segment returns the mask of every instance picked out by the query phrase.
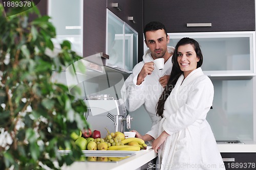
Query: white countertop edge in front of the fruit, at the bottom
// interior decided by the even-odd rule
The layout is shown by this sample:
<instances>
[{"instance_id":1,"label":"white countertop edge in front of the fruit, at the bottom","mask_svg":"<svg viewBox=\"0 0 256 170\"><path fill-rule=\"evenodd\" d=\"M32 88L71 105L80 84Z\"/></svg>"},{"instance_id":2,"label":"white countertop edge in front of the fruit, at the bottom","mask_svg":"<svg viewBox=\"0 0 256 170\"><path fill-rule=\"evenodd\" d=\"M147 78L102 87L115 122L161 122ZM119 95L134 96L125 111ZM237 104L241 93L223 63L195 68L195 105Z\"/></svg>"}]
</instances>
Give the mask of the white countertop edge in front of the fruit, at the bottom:
<instances>
[{"instance_id":1,"label":"white countertop edge in front of the fruit, at the bottom","mask_svg":"<svg viewBox=\"0 0 256 170\"><path fill-rule=\"evenodd\" d=\"M97 169L97 170L135 170L154 159L157 155L151 147L138 151L135 155L118 162L74 162L71 166L62 166L63 170Z\"/></svg>"}]
</instances>

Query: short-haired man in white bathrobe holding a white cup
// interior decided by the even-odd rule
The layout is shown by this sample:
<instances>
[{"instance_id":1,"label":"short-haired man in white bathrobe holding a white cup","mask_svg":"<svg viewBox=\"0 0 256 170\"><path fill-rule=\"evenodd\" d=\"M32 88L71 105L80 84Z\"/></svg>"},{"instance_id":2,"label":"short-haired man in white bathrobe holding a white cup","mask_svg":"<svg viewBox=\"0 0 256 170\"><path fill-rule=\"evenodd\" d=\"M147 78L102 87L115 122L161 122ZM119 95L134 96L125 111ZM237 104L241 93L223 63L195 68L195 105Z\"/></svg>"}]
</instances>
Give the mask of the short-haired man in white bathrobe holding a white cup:
<instances>
[{"instance_id":1,"label":"short-haired man in white bathrobe holding a white cup","mask_svg":"<svg viewBox=\"0 0 256 170\"><path fill-rule=\"evenodd\" d=\"M133 68L133 74L125 80L121 95L128 111L135 111L143 105L151 117L152 125L155 125L158 120L156 105L169 80L174 47L167 46L169 36L161 22L148 23L143 33L149 49L143 55L143 61ZM153 61L158 58L164 58L162 70L154 66Z\"/></svg>"}]
</instances>

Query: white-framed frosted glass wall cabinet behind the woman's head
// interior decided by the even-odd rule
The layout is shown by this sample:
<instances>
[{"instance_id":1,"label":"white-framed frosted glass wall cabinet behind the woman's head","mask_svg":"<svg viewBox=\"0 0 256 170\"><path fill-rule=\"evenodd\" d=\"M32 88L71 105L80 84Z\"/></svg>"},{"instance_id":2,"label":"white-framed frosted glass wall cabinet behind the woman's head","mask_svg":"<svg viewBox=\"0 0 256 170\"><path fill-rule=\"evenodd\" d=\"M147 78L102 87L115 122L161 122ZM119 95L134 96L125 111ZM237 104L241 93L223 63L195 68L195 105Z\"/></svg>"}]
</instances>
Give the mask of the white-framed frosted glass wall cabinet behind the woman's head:
<instances>
[{"instance_id":1,"label":"white-framed frosted glass wall cabinet behind the woman's head","mask_svg":"<svg viewBox=\"0 0 256 170\"><path fill-rule=\"evenodd\" d=\"M254 32L168 33L175 46L183 37L197 40L203 53L202 69L210 77L255 76Z\"/></svg>"}]
</instances>

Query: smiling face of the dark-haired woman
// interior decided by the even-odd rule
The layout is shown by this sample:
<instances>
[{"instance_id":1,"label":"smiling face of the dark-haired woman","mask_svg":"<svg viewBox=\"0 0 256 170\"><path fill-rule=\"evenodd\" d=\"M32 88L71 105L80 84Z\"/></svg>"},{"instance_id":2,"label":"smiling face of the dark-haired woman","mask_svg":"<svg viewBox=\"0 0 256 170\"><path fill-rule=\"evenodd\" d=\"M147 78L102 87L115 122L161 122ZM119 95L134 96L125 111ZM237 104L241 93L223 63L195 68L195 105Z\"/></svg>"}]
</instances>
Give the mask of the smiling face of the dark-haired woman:
<instances>
[{"instance_id":1,"label":"smiling face of the dark-haired woman","mask_svg":"<svg viewBox=\"0 0 256 170\"><path fill-rule=\"evenodd\" d=\"M177 61L179 63L180 69L184 73L184 77L186 78L187 75L197 69L197 62L200 59L197 57L195 52L194 46L191 44L180 45L178 47L178 58Z\"/></svg>"}]
</instances>

